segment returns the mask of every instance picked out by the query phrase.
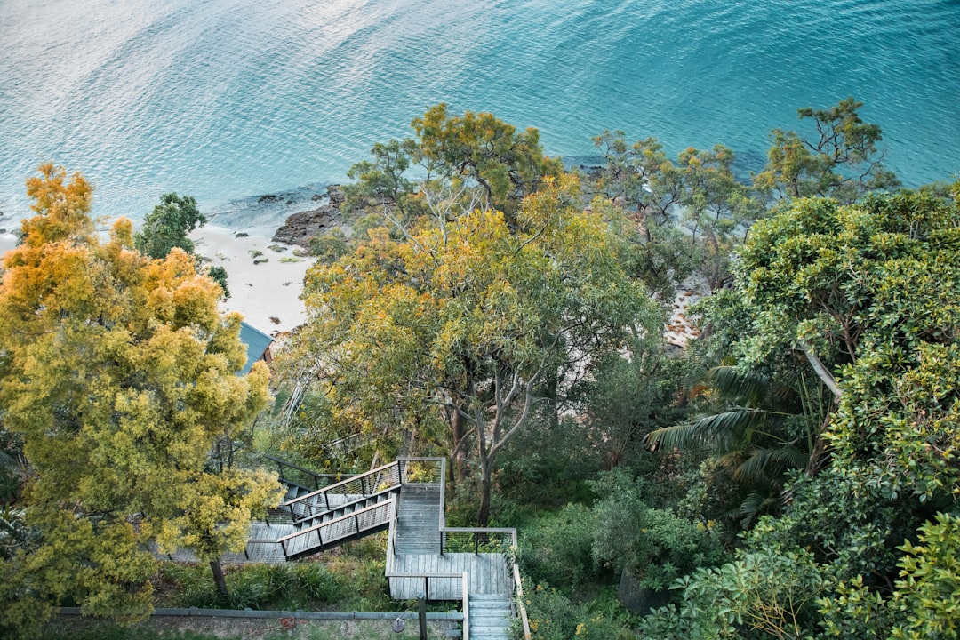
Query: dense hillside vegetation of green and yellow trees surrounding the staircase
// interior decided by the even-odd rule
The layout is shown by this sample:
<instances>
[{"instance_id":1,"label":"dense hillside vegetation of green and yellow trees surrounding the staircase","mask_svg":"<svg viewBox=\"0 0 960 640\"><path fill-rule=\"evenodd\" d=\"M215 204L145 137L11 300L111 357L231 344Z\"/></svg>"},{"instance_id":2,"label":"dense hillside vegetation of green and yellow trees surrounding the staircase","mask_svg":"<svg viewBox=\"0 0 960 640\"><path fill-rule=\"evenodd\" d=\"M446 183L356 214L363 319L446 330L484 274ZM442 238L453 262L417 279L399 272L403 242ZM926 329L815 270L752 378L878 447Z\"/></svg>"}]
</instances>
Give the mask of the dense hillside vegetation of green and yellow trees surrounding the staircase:
<instances>
[{"instance_id":1,"label":"dense hillside vegetation of green and yellow trees surrounding the staircase","mask_svg":"<svg viewBox=\"0 0 960 640\"><path fill-rule=\"evenodd\" d=\"M314 243L259 444L344 471L447 457L451 523L520 529L538 639L957 637L960 182L900 189L859 107L802 109L749 180L725 147L673 161L618 131L580 176L536 130L429 109L351 170L352 233ZM222 291L182 243L141 257L122 223L101 245L63 179L32 178L0 289L0 436L29 461L24 493L0 484L10 628L28 600L142 612L138 549L214 559L233 538L199 532L269 503L206 458L266 384L228 376ZM155 213L185 228L189 204ZM710 294L682 350L678 288Z\"/></svg>"}]
</instances>

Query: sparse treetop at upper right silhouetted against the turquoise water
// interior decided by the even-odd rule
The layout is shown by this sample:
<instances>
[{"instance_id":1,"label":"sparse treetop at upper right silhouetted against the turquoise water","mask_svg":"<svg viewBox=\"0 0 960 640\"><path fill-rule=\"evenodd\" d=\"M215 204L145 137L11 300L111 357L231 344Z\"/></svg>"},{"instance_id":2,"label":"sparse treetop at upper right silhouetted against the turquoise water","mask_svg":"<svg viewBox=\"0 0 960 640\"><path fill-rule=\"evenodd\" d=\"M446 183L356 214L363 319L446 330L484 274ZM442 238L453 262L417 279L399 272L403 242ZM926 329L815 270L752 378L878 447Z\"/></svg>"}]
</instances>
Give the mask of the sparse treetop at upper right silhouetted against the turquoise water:
<instances>
[{"instance_id":1,"label":"sparse treetop at upper right silhouetted against the turquoise water","mask_svg":"<svg viewBox=\"0 0 960 640\"><path fill-rule=\"evenodd\" d=\"M816 135L771 131L767 166L756 176L756 187L786 200L822 196L852 202L868 191L899 186L876 150L881 130L863 122L860 107L851 97L828 109L799 109L801 119L813 120Z\"/></svg>"}]
</instances>

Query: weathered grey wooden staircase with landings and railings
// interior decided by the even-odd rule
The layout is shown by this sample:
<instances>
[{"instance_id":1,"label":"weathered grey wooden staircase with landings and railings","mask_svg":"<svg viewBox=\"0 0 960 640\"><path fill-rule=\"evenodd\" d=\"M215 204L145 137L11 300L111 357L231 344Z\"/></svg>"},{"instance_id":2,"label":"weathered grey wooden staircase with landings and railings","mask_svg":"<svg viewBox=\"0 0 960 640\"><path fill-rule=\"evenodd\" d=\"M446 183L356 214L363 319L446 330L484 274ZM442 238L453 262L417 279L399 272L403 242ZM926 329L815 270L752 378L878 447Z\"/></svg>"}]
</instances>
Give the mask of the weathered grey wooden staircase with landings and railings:
<instances>
[{"instance_id":1,"label":"weathered grey wooden staircase with landings and railings","mask_svg":"<svg viewBox=\"0 0 960 640\"><path fill-rule=\"evenodd\" d=\"M516 620L530 637L513 560L516 529L446 527L444 459L401 458L343 479L272 460L286 497L267 521L252 524L243 553L223 561L296 560L389 530L391 598L462 601L464 636L471 640L508 640Z\"/></svg>"}]
</instances>

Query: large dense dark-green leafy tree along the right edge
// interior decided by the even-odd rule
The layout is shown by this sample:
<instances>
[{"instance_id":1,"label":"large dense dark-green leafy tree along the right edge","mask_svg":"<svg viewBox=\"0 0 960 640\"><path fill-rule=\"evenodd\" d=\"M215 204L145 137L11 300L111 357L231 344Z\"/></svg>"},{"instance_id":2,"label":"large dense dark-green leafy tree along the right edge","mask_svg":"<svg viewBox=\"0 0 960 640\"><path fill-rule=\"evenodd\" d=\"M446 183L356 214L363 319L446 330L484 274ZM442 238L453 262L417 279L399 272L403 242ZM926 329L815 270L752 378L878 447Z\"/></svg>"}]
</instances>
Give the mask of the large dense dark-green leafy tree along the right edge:
<instances>
[{"instance_id":1,"label":"large dense dark-green leafy tree along the right edge","mask_svg":"<svg viewBox=\"0 0 960 640\"><path fill-rule=\"evenodd\" d=\"M948 597L924 602L957 580L945 543L960 487L957 193L792 201L740 252L732 355L764 367L803 353L836 398L819 443L830 463L794 476L783 516L748 534L744 553L809 554L830 635L948 633Z\"/></svg>"}]
</instances>

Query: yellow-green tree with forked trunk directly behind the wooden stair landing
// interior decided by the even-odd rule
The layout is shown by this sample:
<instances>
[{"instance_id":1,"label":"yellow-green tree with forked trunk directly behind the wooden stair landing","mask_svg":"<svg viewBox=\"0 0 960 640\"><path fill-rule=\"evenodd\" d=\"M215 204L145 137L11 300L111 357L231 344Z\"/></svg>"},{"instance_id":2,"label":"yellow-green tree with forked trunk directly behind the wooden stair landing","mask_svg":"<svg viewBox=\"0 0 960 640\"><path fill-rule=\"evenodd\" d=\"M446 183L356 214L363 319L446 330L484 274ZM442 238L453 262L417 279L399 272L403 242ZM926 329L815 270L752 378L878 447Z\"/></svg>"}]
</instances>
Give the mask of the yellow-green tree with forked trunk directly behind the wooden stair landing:
<instances>
[{"instance_id":1,"label":"yellow-green tree with forked trunk directly behind the wooden stair landing","mask_svg":"<svg viewBox=\"0 0 960 640\"><path fill-rule=\"evenodd\" d=\"M550 401L549 383L633 336L659 337L660 311L623 273L610 223L581 211L574 178L547 179L513 225L447 203L400 225L400 239L373 229L311 269L299 353L313 356L295 357L323 379L331 419L407 450L436 439L455 460L472 444L486 524L496 457Z\"/></svg>"}]
</instances>

